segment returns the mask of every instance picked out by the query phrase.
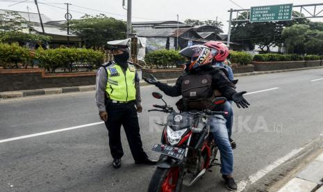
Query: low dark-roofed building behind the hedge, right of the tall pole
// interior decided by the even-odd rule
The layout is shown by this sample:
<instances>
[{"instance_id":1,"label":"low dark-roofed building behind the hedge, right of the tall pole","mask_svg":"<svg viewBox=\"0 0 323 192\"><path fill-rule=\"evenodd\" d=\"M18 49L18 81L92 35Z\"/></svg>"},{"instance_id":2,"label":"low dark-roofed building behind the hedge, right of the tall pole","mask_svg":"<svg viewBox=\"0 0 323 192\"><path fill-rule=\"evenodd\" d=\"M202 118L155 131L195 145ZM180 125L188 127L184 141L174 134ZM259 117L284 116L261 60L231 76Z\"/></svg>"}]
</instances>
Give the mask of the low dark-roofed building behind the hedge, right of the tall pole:
<instances>
[{"instance_id":1,"label":"low dark-roofed building behind the hedge, right of the tall pole","mask_svg":"<svg viewBox=\"0 0 323 192\"><path fill-rule=\"evenodd\" d=\"M210 40L227 43L228 35L216 26L194 26L176 21L133 22L135 35L147 38L147 51L156 49L183 49L188 45L199 45ZM250 50L249 44L230 42L233 50Z\"/></svg>"}]
</instances>

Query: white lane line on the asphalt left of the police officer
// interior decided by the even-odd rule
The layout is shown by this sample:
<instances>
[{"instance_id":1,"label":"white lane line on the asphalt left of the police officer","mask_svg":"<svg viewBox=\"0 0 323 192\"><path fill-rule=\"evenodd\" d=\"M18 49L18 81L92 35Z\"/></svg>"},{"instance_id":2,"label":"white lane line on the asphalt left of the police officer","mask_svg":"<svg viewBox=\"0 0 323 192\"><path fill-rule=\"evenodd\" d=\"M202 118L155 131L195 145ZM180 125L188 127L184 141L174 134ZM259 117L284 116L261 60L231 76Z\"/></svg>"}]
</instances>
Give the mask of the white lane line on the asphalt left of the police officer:
<instances>
[{"instance_id":1,"label":"white lane line on the asphalt left of the police officer","mask_svg":"<svg viewBox=\"0 0 323 192\"><path fill-rule=\"evenodd\" d=\"M30 134L30 135L26 135L26 136L18 136L18 137L13 137L13 138L7 138L7 139L0 140L0 143L6 143L6 142L9 142L9 141L16 141L16 140L23 139L23 138L31 138L31 137L35 137L35 136L54 134L54 133L58 133L58 132L62 132L62 131L69 131L69 130L72 130L72 129L80 129L80 128L83 128L83 127L90 127L90 126L99 125L99 124L103 124L103 123L104 123L103 121L102 122L93 122L93 123L89 123L89 124L85 124L85 125L78 125L78 126L75 126L75 127L68 127L68 128L64 128L64 129L56 129L56 130L53 130L53 131L45 131L45 132L41 132L41 133L38 133L38 134Z\"/></svg>"}]
</instances>

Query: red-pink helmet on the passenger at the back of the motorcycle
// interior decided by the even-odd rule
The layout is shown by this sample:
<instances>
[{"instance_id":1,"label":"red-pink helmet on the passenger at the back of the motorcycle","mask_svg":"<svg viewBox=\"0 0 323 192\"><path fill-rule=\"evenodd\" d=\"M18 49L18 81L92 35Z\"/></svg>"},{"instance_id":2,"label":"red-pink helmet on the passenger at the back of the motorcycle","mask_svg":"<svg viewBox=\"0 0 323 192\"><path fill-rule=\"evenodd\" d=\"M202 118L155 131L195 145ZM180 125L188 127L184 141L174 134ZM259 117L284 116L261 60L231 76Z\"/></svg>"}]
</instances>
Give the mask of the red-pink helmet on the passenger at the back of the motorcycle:
<instances>
[{"instance_id":1,"label":"red-pink helmet on the passenger at the back of the motorcycle","mask_svg":"<svg viewBox=\"0 0 323 192\"><path fill-rule=\"evenodd\" d=\"M217 62L223 62L229 56L229 48L223 42L209 41L204 45L212 50L213 59Z\"/></svg>"}]
</instances>

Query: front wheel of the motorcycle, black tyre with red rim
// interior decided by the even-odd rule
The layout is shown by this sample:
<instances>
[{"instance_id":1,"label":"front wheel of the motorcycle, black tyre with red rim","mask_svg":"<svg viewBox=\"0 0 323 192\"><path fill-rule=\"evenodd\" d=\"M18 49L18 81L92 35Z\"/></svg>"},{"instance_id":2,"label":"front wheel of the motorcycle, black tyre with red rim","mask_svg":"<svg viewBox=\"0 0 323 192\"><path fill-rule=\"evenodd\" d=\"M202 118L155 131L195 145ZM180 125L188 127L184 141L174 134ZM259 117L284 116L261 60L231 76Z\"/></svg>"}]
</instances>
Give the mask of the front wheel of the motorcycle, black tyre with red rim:
<instances>
[{"instance_id":1,"label":"front wheel of the motorcycle, black tyre with red rim","mask_svg":"<svg viewBox=\"0 0 323 192\"><path fill-rule=\"evenodd\" d=\"M148 192L174 192L181 191L183 180L179 178L181 168L156 168L151 177Z\"/></svg>"}]
</instances>

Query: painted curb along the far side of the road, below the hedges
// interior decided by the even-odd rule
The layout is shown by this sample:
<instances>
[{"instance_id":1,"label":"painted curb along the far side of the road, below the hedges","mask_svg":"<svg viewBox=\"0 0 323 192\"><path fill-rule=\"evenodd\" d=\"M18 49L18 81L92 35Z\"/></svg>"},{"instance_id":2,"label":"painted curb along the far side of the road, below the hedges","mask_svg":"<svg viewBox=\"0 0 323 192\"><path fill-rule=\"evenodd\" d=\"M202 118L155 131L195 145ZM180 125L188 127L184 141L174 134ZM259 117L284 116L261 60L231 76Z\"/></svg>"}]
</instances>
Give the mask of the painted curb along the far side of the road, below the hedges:
<instances>
[{"instance_id":1,"label":"painted curb along the far side of the road, below the hedges","mask_svg":"<svg viewBox=\"0 0 323 192\"><path fill-rule=\"evenodd\" d=\"M276 70L276 71L267 71L267 72L249 72L249 73L240 73L234 74L235 77L247 77L258 74L273 74L273 73L281 73L281 72L294 72L294 71L302 71L302 70L313 70L320 69L320 67L305 67L305 68L297 68L291 70ZM160 80L162 83L176 83L176 79L162 79ZM140 86L150 86L145 81L140 81ZM73 93L73 92L85 92L95 90L95 86L73 86L73 87L64 87L64 88L44 88L44 89L36 89L36 90L19 90L19 91L7 91L0 93L0 99L13 99L17 97L28 97L34 95L53 95L60 93Z\"/></svg>"}]
</instances>

